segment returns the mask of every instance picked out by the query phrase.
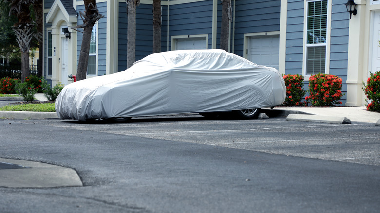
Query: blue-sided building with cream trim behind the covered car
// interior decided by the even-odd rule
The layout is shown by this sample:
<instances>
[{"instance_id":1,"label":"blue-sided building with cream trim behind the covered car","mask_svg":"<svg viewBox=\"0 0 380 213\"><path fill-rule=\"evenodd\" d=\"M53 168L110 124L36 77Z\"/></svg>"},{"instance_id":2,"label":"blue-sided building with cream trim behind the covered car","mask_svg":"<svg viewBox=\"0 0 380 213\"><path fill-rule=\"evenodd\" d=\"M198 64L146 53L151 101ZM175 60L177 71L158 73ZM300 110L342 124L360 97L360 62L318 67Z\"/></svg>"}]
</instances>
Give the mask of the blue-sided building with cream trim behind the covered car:
<instances>
[{"instance_id":1,"label":"blue-sided building with cream trim behind the covered car","mask_svg":"<svg viewBox=\"0 0 380 213\"><path fill-rule=\"evenodd\" d=\"M283 74L338 75L343 79L343 104L365 104L361 82L380 70L377 32L378 0L355 0L358 14L349 18L346 0L231 0L229 52ZM104 15L93 28L88 77L127 68L128 15L125 0L97 0ZM44 0L44 74L53 85L72 82L82 33L83 1ZM161 0L161 50L219 48L220 0ZM318 22L319 21L319 22ZM68 29L71 38L63 32ZM136 60L152 53L152 0L136 9Z\"/></svg>"}]
</instances>

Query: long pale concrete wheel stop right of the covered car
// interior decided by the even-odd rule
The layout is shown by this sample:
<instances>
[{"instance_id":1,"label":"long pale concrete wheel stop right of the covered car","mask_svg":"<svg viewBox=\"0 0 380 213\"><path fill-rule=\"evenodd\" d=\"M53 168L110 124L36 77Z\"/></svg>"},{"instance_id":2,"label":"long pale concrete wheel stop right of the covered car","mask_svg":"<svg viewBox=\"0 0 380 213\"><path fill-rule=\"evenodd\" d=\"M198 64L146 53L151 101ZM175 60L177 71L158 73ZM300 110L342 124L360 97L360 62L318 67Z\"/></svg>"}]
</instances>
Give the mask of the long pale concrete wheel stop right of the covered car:
<instances>
[{"instance_id":1,"label":"long pale concrete wheel stop right of the covered car","mask_svg":"<svg viewBox=\"0 0 380 213\"><path fill-rule=\"evenodd\" d=\"M322 116L322 115L289 114L286 117L286 121L311 121L311 122L322 122L322 123L331 123L331 124L351 124L351 120L346 117Z\"/></svg>"}]
</instances>

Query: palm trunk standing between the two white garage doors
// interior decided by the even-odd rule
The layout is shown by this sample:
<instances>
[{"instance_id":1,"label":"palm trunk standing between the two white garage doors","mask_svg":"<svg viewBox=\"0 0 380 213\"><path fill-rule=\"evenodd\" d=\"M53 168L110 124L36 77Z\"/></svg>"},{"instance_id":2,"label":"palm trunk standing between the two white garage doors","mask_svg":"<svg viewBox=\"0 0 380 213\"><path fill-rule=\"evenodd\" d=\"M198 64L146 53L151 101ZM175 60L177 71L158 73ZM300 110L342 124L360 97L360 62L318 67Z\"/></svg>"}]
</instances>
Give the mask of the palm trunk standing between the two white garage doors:
<instances>
[{"instance_id":1,"label":"palm trunk standing between the two white garage doors","mask_svg":"<svg viewBox=\"0 0 380 213\"><path fill-rule=\"evenodd\" d=\"M228 51L229 24L232 21L231 0L222 0L222 27L220 30L220 49Z\"/></svg>"}]
</instances>

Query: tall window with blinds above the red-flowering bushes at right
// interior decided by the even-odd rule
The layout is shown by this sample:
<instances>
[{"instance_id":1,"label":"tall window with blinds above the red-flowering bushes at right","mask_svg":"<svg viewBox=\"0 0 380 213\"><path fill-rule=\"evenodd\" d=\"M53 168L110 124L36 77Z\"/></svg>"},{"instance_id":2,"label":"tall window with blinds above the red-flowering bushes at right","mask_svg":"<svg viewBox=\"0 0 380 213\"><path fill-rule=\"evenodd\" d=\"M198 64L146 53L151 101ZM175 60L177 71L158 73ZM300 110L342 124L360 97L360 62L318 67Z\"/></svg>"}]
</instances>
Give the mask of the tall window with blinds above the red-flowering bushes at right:
<instances>
[{"instance_id":1,"label":"tall window with blinds above the red-flowering bushes at right","mask_svg":"<svg viewBox=\"0 0 380 213\"><path fill-rule=\"evenodd\" d=\"M306 75L325 73L327 0L307 3Z\"/></svg>"}]
</instances>

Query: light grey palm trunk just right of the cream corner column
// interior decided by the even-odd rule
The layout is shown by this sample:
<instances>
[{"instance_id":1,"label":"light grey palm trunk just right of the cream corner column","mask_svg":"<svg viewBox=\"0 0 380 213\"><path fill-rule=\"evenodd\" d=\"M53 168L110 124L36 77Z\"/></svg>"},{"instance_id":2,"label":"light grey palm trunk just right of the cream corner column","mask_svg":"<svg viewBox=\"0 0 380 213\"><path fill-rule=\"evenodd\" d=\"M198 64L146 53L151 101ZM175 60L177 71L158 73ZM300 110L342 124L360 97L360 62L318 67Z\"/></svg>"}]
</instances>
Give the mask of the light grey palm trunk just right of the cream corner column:
<instances>
[{"instance_id":1,"label":"light grey palm trunk just right of the cream corner column","mask_svg":"<svg viewBox=\"0 0 380 213\"><path fill-rule=\"evenodd\" d=\"M127 30L127 68L136 61L136 7L140 0L125 0L127 3L128 30Z\"/></svg>"}]
</instances>

